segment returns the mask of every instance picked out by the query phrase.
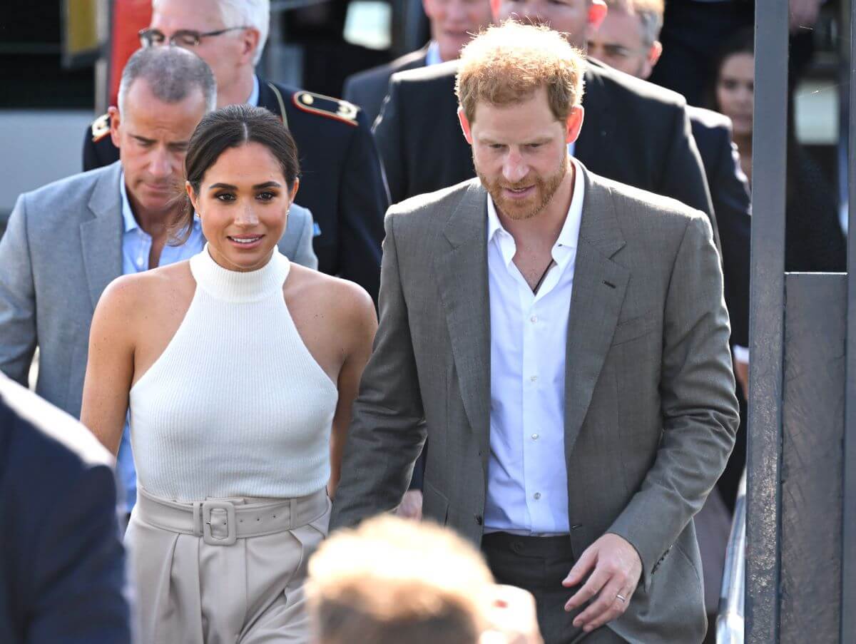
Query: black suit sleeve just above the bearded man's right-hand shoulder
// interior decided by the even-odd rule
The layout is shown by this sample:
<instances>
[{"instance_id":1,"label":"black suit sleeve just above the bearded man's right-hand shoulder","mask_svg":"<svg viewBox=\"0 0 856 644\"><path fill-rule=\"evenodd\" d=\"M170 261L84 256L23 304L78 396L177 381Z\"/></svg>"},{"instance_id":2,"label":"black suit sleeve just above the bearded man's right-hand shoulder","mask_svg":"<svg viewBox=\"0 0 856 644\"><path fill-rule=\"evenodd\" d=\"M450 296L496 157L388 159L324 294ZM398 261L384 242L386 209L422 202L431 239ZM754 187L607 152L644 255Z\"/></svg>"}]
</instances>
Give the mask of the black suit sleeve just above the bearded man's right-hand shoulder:
<instances>
[{"instance_id":1,"label":"black suit sleeve just above the bearded man's right-hand shoulder","mask_svg":"<svg viewBox=\"0 0 856 644\"><path fill-rule=\"evenodd\" d=\"M716 214L710 200L707 178L704 176L704 164L693 138L687 108L679 106L673 112L675 116L672 119L671 133L667 137L671 144L666 153L661 185L654 192L704 212L710 219L714 245L718 249L720 244Z\"/></svg>"}]
</instances>

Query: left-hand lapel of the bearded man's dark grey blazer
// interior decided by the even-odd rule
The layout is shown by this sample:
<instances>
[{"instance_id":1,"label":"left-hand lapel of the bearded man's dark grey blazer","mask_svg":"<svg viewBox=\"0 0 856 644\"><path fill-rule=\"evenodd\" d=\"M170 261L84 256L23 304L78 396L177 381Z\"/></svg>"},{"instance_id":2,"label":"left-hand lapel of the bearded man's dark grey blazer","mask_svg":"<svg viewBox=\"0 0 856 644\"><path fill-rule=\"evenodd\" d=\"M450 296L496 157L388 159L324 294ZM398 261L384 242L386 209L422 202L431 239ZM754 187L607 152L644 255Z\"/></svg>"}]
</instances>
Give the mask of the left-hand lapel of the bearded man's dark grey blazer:
<instances>
[{"instance_id":1,"label":"left-hand lapel of the bearded man's dark grey blazer","mask_svg":"<svg viewBox=\"0 0 856 644\"><path fill-rule=\"evenodd\" d=\"M487 471L490 451L490 302L487 280L487 193L470 181L443 236L449 246L434 258L449 325L461 400L479 437Z\"/></svg>"}]
</instances>

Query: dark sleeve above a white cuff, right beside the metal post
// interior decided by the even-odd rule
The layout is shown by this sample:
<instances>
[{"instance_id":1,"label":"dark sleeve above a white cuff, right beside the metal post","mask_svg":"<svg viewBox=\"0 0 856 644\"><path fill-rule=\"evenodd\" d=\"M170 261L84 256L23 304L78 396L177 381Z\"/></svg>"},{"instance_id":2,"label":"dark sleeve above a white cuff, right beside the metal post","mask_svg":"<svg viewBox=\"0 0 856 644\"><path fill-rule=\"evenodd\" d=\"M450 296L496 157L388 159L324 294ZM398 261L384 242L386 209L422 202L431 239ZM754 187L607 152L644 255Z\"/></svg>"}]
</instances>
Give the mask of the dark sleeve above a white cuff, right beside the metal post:
<instances>
[{"instance_id":1,"label":"dark sleeve above a white cuff, right beside the metal post","mask_svg":"<svg viewBox=\"0 0 856 644\"><path fill-rule=\"evenodd\" d=\"M752 207L746 175L740 170L740 155L723 130L716 168L709 168L710 197L716 212L722 243L722 271L725 303L731 321L731 340L749 346L749 253L752 234Z\"/></svg>"}]
</instances>

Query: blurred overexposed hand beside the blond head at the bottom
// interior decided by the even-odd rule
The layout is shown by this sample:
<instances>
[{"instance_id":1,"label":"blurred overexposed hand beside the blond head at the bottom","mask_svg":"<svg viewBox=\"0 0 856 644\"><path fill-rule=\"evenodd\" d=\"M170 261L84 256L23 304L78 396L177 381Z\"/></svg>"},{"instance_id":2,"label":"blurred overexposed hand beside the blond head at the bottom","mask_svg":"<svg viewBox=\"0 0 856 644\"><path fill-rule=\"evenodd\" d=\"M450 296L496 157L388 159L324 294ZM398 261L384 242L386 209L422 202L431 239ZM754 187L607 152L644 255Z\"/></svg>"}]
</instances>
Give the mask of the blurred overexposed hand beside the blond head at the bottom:
<instances>
[{"instance_id":1,"label":"blurred overexposed hand beside the blond head at the bottom","mask_svg":"<svg viewBox=\"0 0 856 644\"><path fill-rule=\"evenodd\" d=\"M487 615L490 627L479 644L544 644L532 593L497 584L491 599Z\"/></svg>"}]
</instances>

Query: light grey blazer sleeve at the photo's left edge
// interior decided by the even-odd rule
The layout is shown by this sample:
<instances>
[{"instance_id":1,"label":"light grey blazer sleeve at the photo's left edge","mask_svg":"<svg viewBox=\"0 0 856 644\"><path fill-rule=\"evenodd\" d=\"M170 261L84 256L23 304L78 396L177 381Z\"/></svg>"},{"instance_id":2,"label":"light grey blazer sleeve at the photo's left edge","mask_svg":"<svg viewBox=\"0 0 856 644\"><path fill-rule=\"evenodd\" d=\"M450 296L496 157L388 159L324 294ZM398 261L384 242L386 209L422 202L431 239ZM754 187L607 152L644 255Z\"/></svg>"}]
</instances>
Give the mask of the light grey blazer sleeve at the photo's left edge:
<instances>
[{"instance_id":1,"label":"light grey blazer sleeve at the photo's left edge","mask_svg":"<svg viewBox=\"0 0 856 644\"><path fill-rule=\"evenodd\" d=\"M27 194L21 194L0 237L0 371L27 386L36 349L36 293L27 237Z\"/></svg>"}]
</instances>

